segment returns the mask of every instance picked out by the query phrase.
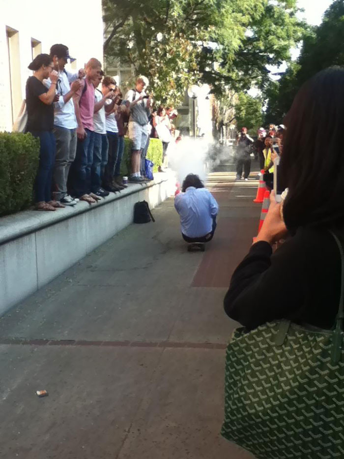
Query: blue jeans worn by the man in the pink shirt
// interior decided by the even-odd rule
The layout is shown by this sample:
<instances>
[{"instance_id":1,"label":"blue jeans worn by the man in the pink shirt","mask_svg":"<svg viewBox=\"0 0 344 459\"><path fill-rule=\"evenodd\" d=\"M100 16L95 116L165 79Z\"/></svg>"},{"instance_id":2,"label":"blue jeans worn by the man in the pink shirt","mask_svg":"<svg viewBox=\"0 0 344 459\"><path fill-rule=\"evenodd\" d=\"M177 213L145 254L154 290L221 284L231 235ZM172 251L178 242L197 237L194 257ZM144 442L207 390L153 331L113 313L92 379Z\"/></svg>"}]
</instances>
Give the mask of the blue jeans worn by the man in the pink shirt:
<instances>
[{"instance_id":1,"label":"blue jeans worn by the man in the pink shirt","mask_svg":"<svg viewBox=\"0 0 344 459\"><path fill-rule=\"evenodd\" d=\"M93 164L94 132L85 129L86 138L78 139L74 161L74 194L77 198L91 190L91 168Z\"/></svg>"}]
</instances>

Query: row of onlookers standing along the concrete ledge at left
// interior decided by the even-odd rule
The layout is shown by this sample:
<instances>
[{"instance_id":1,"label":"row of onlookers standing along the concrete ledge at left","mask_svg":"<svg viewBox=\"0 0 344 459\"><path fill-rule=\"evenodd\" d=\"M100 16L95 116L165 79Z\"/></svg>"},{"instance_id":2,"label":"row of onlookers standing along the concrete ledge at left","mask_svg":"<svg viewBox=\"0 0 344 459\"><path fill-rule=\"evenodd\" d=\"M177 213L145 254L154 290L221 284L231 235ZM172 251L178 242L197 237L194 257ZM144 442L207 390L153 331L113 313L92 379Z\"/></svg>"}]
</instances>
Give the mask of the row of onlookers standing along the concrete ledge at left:
<instances>
[{"instance_id":1,"label":"row of onlookers standing along the concrete ledge at left","mask_svg":"<svg viewBox=\"0 0 344 459\"><path fill-rule=\"evenodd\" d=\"M90 59L85 69L65 69L67 46L53 45L50 54L38 55L30 64L33 75L26 85L26 131L40 140L35 180L35 208L55 211L79 200L95 203L128 185L121 176L124 136L132 142L129 182L143 184L150 138L166 151L174 138L173 107L153 108L146 94L148 81L140 76L135 88L123 97L116 81L105 76L101 62Z\"/></svg>"}]
</instances>

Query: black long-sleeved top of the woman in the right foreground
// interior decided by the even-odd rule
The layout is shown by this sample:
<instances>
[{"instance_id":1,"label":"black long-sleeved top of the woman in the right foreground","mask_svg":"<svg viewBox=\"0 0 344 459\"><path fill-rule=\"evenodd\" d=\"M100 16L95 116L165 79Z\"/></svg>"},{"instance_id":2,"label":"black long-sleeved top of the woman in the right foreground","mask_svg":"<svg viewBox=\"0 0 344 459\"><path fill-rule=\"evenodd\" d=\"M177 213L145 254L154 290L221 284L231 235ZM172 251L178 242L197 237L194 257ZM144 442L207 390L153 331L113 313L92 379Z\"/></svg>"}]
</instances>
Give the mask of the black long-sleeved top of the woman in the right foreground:
<instances>
[{"instance_id":1,"label":"black long-sleeved top of the woman in the right foreground","mask_svg":"<svg viewBox=\"0 0 344 459\"><path fill-rule=\"evenodd\" d=\"M341 257L333 236L300 228L273 254L267 242L252 245L232 275L224 306L248 329L281 318L331 329L340 291Z\"/></svg>"}]
</instances>

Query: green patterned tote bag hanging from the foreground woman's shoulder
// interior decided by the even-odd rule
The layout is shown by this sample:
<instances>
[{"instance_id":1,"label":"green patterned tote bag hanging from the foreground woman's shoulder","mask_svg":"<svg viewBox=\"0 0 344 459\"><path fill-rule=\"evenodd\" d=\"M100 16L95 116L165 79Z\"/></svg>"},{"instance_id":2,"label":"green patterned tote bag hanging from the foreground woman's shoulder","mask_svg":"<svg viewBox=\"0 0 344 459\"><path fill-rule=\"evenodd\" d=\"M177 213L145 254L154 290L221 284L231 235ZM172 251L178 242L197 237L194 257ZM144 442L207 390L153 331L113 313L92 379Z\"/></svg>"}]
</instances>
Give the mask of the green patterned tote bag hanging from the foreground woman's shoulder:
<instances>
[{"instance_id":1,"label":"green patterned tote bag hanging from the foreground woman's shoulder","mask_svg":"<svg viewBox=\"0 0 344 459\"><path fill-rule=\"evenodd\" d=\"M287 320L234 332L221 434L258 459L344 459L344 255L333 330ZM326 307L326 305L324 305Z\"/></svg>"}]
</instances>

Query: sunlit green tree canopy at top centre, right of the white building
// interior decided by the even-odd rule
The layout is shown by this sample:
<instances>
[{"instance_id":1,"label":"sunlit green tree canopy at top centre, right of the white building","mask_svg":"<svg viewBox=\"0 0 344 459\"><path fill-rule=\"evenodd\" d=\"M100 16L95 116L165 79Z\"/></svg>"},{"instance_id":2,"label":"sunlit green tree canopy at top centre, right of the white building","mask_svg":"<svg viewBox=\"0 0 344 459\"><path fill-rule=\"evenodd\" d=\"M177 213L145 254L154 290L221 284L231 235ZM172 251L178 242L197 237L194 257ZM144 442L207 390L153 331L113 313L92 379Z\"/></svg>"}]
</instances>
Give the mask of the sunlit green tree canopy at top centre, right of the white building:
<instances>
[{"instance_id":1,"label":"sunlit green tree canopy at top centre, right of the white building","mask_svg":"<svg viewBox=\"0 0 344 459\"><path fill-rule=\"evenodd\" d=\"M130 63L159 102L178 104L192 83L220 95L269 82L304 36L296 0L103 0L107 62Z\"/></svg>"}]
</instances>

